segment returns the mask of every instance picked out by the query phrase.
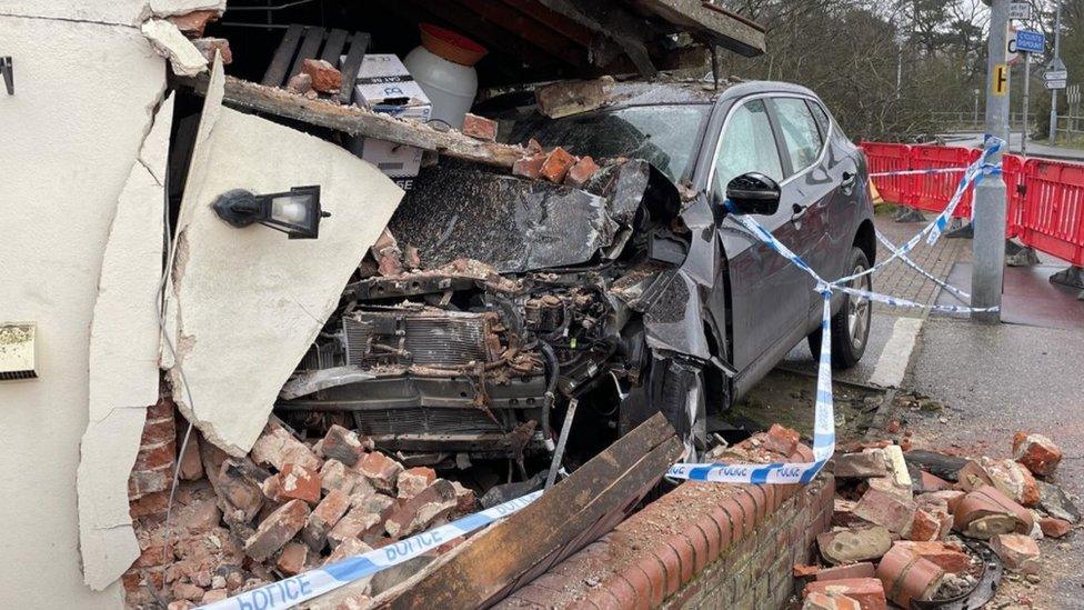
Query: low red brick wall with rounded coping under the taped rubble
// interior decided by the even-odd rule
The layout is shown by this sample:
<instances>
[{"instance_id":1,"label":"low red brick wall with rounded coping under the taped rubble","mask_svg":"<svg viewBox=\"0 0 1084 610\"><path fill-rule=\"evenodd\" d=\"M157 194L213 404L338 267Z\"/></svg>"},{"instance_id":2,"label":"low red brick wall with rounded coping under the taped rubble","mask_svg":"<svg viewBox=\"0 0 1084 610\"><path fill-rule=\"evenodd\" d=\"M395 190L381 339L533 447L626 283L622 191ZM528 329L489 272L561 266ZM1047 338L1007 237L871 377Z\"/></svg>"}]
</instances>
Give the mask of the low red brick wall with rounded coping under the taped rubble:
<instances>
[{"instance_id":1,"label":"low red brick wall with rounded coping under the taped rubble","mask_svg":"<svg viewBox=\"0 0 1084 610\"><path fill-rule=\"evenodd\" d=\"M499 608L782 608L832 520L835 484L686 482Z\"/></svg>"}]
</instances>

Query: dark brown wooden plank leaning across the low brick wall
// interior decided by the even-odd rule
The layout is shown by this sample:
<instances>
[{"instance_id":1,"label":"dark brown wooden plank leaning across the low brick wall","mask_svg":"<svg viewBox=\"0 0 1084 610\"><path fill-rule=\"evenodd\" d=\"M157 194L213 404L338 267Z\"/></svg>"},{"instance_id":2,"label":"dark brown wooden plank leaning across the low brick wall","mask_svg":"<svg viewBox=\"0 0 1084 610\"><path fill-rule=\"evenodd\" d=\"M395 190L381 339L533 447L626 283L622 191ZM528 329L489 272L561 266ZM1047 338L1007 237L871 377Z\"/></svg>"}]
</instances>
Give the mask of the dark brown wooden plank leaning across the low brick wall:
<instances>
[{"instance_id":1,"label":"dark brown wooden plank leaning across the low brick wall","mask_svg":"<svg viewBox=\"0 0 1084 610\"><path fill-rule=\"evenodd\" d=\"M393 609L484 608L590 542L676 460L681 441L661 413L583 464L540 499L473 538L428 577L375 600ZM601 528L600 528L601 529Z\"/></svg>"}]
</instances>

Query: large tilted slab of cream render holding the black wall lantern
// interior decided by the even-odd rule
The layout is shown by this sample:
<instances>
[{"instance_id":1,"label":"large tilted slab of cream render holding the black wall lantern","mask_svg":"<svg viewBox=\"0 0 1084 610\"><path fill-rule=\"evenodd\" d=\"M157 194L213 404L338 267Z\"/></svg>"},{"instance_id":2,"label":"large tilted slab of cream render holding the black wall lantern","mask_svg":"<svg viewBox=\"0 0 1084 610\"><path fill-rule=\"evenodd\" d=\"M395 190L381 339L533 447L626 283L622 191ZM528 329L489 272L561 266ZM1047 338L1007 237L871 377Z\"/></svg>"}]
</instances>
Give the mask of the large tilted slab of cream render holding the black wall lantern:
<instances>
[{"instance_id":1,"label":"large tilted slab of cream render holding the black wall lantern","mask_svg":"<svg viewBox=\"0 0 1084 610\"><path fill-rule=\"evenodd\" d=\"M403 191L340 147L222 108L222 82L215 62L170 270L169 374L173 399L205 439L243 456ZM211 208L231 189L310 184L332 214L319 239L237 229Z\"/></svg>"}]
</instances>

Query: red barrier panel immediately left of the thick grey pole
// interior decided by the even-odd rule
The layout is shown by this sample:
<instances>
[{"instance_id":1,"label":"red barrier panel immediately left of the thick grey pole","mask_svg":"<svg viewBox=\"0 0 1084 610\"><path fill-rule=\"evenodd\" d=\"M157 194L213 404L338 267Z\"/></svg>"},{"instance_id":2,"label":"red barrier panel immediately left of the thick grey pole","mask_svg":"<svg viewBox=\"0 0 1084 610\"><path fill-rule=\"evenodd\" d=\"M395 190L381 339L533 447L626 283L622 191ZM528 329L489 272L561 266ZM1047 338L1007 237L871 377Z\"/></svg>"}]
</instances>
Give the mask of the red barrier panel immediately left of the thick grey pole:
<instances>
[{"instance_id":1,"label":"red barrier panel immediately left of the thick grey pole","mask_svg":"<svg viewBox=\"0 0 1084 610\"><path fill-rule=\"evenodd\" d=\"M958 147L916 146L911 147L911 169L965 168L975 162L982 153L978 150ZM911 207L927 212L941 212L948 204L963 172L919 174L912 182ZM973 189L967 189L960 206L953 213L955 218L971 218Z\"/></svg>"}]
</instances>

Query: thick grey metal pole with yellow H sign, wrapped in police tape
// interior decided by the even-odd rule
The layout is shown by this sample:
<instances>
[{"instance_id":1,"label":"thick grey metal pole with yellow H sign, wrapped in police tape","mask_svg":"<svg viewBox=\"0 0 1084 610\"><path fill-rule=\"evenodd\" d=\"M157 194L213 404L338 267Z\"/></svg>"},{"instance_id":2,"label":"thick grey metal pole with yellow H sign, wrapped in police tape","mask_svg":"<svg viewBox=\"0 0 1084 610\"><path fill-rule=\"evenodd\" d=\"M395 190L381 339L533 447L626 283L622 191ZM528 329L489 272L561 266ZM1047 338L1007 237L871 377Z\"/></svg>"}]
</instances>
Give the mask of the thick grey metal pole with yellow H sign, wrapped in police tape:
<instances>
[{"instance_id":1,"label":"thick grey metal pole with yellow H sign, wrapped in police tape","mask_svg":"<svg viewBox=\"0 0 1084 610\"><path fill-rule=\"evenodd\" d=\"M990 42L986 57L986 136L1008 144L1008 64L1005 62L1008 38L1008 1L993 0L990 11ZM1002 151L992 154L991 163L1001 163ZM1001 173L983 178L975 187L974 239L971 272L972 306L1001 307L1005 271L1005 181ZM972 313L987 323L1001 321L1000 311Z\"/></svg>"}]
</instances>

